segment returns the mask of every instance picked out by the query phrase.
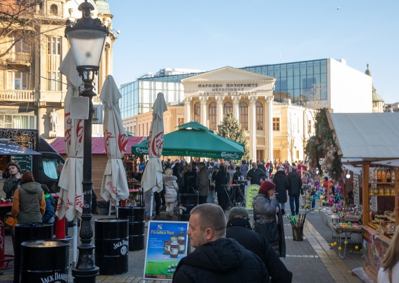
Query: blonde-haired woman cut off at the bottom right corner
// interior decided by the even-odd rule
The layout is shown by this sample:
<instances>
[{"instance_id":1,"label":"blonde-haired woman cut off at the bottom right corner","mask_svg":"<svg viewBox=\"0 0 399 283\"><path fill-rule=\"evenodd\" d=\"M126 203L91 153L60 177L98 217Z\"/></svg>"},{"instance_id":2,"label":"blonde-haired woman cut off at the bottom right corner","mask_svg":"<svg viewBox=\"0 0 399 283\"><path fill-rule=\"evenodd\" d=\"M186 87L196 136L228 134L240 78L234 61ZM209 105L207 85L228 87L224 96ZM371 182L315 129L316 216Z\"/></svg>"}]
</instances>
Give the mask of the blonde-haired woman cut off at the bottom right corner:
<instances>
[{"instance_id":1,"label":"blonde-haired woman cut off at the bottom right corner","mask_svg":"<svg viewBox=\"0 0 399 283\"><path fill-rule=\"evenodd\" d=\"M399 226L378 272L378 283L399 282Z\"/></svg>"}]
</instances>

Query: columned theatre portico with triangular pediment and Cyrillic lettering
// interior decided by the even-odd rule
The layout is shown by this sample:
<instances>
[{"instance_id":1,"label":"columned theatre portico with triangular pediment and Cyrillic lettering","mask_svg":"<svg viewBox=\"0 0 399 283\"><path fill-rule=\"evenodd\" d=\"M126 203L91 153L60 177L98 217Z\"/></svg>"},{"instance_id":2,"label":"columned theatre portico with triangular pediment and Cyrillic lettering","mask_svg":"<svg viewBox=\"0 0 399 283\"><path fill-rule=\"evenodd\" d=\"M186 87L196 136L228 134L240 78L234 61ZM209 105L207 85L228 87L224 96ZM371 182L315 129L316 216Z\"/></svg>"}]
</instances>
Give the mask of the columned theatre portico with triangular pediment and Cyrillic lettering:
<instances>
[{"instance_id":1,"label":"columned theatre portico with triangular pediment and Cyrillic lettering","mask_svg":"<svg viewBox=\"0 0 399 283\"><path fill-rule=\"evenodd\" d=\"M212 131L223 116L233 113L249 140L249 152L256 159L273 158L273 87L276 79L225 67L182 80L185 121L197 121ZM261 149L260 149L261 148ZM263 156L260 156L263 155Z\"/></svg>"}]
</instances>

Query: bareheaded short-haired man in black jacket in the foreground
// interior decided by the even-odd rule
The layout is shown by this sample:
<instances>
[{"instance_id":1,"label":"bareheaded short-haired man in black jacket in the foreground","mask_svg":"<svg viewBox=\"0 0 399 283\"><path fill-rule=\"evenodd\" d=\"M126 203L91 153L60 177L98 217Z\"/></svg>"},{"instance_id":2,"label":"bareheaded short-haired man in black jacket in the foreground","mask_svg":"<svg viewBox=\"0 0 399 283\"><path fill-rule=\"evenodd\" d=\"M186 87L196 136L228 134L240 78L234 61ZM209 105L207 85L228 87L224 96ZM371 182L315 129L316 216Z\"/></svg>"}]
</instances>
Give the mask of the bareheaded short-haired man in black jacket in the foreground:
<instances>
[{"instance_id":1,"label":"bareheaded short-haired man in black jacket in the foreground","mask_svg":"<svg viewBox=\"0 0 399 283\"><path fill-rule=\"evenodd\" d=\"M270 282L258 256L225 238L226 217L219 206L205 203L191 213L187 235L196 250L179 262L174 283Z\"/></svg>"}]
</instances>

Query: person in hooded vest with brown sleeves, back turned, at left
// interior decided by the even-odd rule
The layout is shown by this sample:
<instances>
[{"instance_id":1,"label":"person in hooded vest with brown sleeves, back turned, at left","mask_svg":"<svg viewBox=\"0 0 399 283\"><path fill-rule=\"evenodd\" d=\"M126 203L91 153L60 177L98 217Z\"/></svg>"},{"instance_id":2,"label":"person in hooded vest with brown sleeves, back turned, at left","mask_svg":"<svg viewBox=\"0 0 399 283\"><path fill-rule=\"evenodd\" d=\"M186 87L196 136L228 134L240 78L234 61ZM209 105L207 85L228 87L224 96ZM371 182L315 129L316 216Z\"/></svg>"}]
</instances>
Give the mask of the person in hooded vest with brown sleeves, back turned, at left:
<instances>
[{"instance_id":1,"label":"person in hooded vest with brown sleeves, back turned, at left","mask_svg":"<svg viewBox=\"0 0 399 283\"><path fill-rule=\"evenodd\" d=\"M11 216L16 217L18 224L42 222L45 209L40 184L34 181L32 172L23 173L21 187L16 189L12 200Z\"/></svg>"}]
</instances>

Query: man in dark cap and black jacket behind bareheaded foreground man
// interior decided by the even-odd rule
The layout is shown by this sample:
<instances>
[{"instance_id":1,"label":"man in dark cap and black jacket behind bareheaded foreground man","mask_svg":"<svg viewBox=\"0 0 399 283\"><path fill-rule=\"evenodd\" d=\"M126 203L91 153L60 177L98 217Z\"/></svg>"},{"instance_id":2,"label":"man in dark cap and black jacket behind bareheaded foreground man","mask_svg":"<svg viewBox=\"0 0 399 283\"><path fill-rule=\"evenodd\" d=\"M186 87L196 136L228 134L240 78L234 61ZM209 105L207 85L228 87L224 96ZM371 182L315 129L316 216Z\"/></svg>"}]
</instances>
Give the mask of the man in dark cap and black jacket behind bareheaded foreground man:
<instances>
[{"instance_id":1,"label":"man in dark cap and black jacket behind bareheaded foreground man","mask_svg":"<svg viewBox=\"0 0 399 283\"><path fill-rule=\"evenodd\" d=\"M288 271L270 243L261 234L251 231L248 212L243 207L233 207L228 214L226 237L236 240L248 251L257 255L265 264L272 283L291 283Z\"/></svg>"}]
</instances>

